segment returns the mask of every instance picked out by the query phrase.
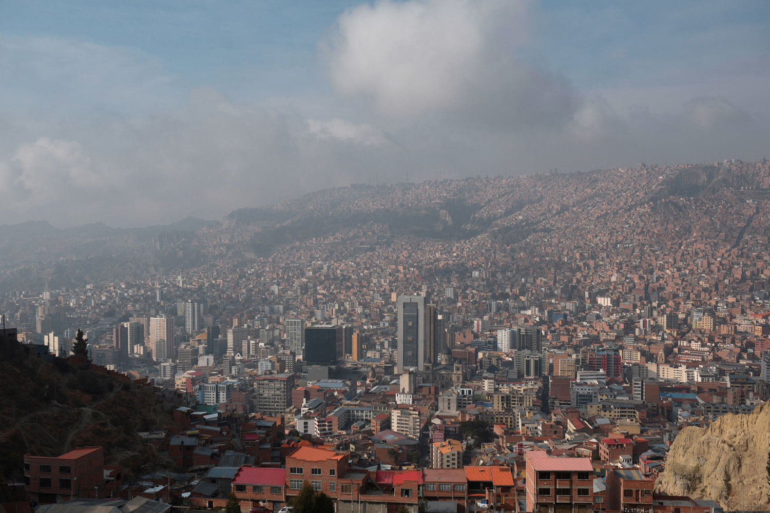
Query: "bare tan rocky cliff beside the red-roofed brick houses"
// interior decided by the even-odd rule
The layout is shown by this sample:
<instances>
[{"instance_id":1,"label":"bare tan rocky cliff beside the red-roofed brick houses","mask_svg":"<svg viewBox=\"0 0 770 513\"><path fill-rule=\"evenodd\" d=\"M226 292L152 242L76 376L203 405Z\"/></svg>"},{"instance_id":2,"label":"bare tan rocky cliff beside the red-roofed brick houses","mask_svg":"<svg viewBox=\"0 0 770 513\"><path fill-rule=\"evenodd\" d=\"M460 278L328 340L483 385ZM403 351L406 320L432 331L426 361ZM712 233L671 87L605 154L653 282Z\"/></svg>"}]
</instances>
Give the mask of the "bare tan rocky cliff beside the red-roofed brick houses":
<instances>
[{"instance_id":1,"label":"bare tan rocky cliff beside the red-roofed brick houses","mask_svg":"<svg viewBox=\"0 0 770 513\"><path fill-rule=\"evenodd\" d=\"M768 451L768 403L751 415L724 415L709 428L682 429L655 491L695 499L710 499L715 491L723 508L767 510Z\"/></svg>"}]
</instances>

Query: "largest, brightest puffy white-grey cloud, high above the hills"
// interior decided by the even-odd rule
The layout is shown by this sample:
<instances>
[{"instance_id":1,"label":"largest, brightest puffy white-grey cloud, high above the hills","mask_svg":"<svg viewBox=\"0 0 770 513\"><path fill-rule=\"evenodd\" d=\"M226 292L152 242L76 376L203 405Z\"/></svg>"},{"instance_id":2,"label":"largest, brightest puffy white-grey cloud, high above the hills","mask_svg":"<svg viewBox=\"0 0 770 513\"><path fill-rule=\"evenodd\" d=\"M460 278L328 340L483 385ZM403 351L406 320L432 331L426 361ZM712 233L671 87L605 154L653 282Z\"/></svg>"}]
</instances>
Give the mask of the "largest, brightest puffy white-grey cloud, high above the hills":
<instances>
[{"instance_id":1,"label":"largest, brightest puffy white-grey cloud, high above the hills","mask_svg":"<svg viewBox=\"0 0 770 513\"><path fill-rule=\"evenodd\" d=\"M564 78L521 58L527 22L518 0L381 0L341 15L323 48L336 91L370 98L384 115L559 126L578 98Z\"/></svg>"}]
</instances>

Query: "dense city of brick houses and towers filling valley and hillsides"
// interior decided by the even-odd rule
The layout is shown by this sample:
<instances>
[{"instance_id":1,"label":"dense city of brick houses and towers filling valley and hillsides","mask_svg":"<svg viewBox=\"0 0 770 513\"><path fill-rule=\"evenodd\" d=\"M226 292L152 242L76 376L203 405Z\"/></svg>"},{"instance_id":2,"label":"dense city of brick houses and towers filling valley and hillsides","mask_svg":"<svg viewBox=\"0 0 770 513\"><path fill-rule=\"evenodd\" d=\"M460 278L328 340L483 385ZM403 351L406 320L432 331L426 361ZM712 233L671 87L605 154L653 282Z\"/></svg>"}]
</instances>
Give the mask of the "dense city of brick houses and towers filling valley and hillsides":
<instances>
[{"instance_id":1,"label":"dense city of brick houses and towers filling valley and hillsides","mask_svg":"<svg viewBox=\"0 0 770 513\"><path fill-rule=\"evenodd\" d=\"M138 465L89 391L83 446L24 453L6 497L256 513L299 511L309 483L351 513L762 509L768 198L765 160L353 185L162 232L147 245L197 256L154 273L61 285L88 240L6 253L6 341L168 415L126 428L157 458ZM115 237L94 240L130 253ZM45 283L12 288L30 269ZM3 401L10 440L24 407Z\"/></svg>"}]
</instances>

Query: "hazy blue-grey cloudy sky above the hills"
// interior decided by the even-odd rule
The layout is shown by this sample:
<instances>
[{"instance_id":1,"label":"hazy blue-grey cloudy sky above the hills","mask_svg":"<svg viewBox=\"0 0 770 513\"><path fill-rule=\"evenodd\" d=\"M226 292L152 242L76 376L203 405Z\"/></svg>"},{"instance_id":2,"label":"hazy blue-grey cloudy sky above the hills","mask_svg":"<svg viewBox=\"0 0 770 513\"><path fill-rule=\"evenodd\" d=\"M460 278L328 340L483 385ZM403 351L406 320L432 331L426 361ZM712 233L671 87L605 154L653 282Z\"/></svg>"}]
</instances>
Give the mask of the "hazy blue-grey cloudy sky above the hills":
<instances>
[{"instance_id":1,"label":"hazy blue-grey cloudy sky above the hills","mask_svg":"<svg viewBox=\"0 0 770 513\"><path fill-rule=\"evenodd\" d=\"M770 2L0 2L0 224L770 157Z\"/></svg>"}]
</instances>

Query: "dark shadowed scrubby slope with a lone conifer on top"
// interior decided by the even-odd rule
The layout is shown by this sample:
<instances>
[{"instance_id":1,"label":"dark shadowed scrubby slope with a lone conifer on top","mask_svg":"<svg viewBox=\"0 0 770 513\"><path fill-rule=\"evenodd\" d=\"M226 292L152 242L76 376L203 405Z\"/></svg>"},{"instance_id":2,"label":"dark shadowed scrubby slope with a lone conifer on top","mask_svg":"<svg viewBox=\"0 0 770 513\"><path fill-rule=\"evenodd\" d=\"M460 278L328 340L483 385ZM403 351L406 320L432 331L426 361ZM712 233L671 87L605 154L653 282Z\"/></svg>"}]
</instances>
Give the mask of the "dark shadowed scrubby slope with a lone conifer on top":
<instances>
[{"instance_id":1,"label":"dark shadowed scrubby slope with a lone conifer on top","mask_svg":"<svg viewBox=\"0 0 770 513\"><path fill-rule=\"evenodd\" d=\"M84 445L105 448L105 463L132 475L169 466L137 431L172 425L152 388L117 381L29 347L0 341L0 495L2 481L20 481L27 453L58 456Z\"/></svg>"}]
</instances>

